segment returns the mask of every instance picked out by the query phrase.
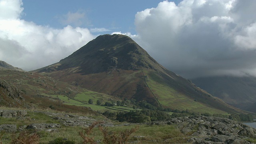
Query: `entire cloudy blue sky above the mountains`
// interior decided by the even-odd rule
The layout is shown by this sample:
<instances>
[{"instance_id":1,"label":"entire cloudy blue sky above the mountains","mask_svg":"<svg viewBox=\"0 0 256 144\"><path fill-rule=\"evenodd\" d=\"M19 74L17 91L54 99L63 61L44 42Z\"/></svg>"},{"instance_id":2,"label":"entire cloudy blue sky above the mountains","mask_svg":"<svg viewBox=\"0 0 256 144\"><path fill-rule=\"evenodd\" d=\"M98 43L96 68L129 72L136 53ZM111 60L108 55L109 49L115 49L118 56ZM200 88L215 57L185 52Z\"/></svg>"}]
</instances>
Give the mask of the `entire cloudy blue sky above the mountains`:
<instances>
[{"instance_id":1,"label":"entire cloudy blue sky above the mountains","mask_svg":"<svg viewBox=\"0 0 256 144\"><path fill-rule=\"evenodd\" d=\"M0 60L56 63L101 34L130 36L185 78L256 76L256 0L0 0Z\"/></svg>"}]
</instances>

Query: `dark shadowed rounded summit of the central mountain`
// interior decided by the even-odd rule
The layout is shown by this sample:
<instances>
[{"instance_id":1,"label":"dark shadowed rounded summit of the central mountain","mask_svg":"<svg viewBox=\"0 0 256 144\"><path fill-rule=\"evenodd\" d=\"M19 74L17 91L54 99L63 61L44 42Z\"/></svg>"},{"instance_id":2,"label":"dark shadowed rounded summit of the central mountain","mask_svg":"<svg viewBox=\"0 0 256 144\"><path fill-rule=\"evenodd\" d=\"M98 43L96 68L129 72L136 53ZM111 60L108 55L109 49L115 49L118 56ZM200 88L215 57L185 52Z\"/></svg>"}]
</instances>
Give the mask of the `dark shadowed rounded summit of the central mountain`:
<instances>
[{"instance_id":1,"label":"dark shadowed rounded summit of the central mountain","mask_svg":"<svg viewBox=\"0 0 256 144\"><path fill-rule=\"evenodd\" d=\"M56 65L56 64L55 64ZM84 74L106 72L113 68L122 70L153 69L160 65L132 38L121 34L105 34L60 60L58 68L40 70L63 70L79 67Z\"/></svg>"}]
</instances>

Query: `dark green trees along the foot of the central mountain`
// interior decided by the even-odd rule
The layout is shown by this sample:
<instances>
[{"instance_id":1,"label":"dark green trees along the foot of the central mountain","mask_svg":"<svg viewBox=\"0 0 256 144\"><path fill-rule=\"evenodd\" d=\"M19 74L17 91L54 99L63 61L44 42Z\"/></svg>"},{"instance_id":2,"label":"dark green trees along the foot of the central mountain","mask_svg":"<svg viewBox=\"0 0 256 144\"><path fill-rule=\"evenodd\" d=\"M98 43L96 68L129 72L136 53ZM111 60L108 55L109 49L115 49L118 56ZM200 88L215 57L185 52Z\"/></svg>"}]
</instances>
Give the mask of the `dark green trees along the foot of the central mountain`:
<instances>
[{"instance_id":1,"label":"dark green trees along the foot of the central mountain","mask_svg":"<svg viewBox=\"0 0 256 144\"><path fill-rule=\"evenodd\" d=\"M90 101L90 100L89 100ZM88 102L90 103L90 102ZM97 100L97 105L102 105L100 100ZM132 122L132 123L141 123L141 122L149 122L149 121L157 121L157 120L167 120L169 118L182 117L182 116L215 116L221 118L229 118L231 120L242 121L242 122L252 122L253 116L251 114L231 114L231 115L223 115L223 114L210 114L208 112L199 114L195 112L189 112L186 110L178 110L171 108L162 108L156 107L152 104L149 104L145 100L136 102L136 100L128 100L124 99L122 101L115 102L105 102L104 106L133 106L133 108L140 108L141 111L130 111L130 112L104 112L103 115L111 120L118 120L119 122ZM171 116L166 112L174 112Z\"/></svg>"}]
</instances>

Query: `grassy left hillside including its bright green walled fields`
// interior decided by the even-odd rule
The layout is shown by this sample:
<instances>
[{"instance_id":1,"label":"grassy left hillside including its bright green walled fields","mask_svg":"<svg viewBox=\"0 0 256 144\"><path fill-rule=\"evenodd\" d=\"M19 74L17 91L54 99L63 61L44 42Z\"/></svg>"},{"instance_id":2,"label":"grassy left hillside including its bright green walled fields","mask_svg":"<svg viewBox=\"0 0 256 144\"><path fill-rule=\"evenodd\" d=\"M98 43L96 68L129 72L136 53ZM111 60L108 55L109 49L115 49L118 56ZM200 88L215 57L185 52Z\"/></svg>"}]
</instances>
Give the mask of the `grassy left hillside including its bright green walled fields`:
<instances>
[{"instance_id":1,"label":"grassy left hillside including its bright green walled fields","mask_svg":"<svg viewBox=\"0 0 256 144\"><path fill-rule=\"evenodd\" d=\"M93 110L108 110L104 106L89 105L90 98L94 100L94 103L100 99L102 104L113 99L112 96L71 86L37 73L0 70L0 78L16 86L18 90L22 90L25 93L22 95L25 98L24 102L28 102L30 108L51 106L60 111L76 112L77 110L87 113L92 111L86 110L84 106L91 107Z\"/></svg>"}]
</instances>

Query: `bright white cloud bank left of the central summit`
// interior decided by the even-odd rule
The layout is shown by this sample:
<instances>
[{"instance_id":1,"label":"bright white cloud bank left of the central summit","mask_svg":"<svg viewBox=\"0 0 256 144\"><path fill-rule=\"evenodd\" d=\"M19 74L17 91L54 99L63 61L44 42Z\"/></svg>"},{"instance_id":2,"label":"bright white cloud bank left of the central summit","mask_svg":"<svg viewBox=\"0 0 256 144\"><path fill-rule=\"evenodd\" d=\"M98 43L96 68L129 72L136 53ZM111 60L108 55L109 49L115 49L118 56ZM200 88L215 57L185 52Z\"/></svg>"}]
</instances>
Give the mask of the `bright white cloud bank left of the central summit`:
<instances>
[{"instance_id":1,"label":"bright white cloud bank left of the central summit","mask_svg":"<svg viewBox=\"0 0 256 144\"><path fill-rule=\"evenodd\" d=\"M0 0L0 60L13 66L34 70L53 64L96 37L87 28L26 22L20 19L21 6L21 0Z\"/></svg>"}]
</instances>

